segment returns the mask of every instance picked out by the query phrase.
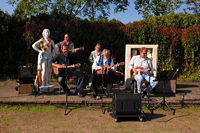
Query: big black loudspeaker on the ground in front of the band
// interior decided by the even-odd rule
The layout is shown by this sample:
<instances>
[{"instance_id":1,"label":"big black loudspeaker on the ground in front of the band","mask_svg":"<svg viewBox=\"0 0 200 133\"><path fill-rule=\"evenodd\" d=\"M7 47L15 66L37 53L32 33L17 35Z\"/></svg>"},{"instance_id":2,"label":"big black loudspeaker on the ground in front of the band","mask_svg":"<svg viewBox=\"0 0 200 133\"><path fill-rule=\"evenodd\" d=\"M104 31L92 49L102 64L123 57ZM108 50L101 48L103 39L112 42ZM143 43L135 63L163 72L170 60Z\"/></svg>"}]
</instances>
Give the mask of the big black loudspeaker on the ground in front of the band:
<instances>
[{"instance_id":1,"label":"big black loudspeaker on the ground in front of the band","mask_svg":"<svg viewBox=\"0 0 200 133\"><path fill-rule=\"evenodd\" d=\"M112 110L114 115L138 115L142 110L141 102L140 94L115 94L112 98Z\"/></svg>"}]
</instances>

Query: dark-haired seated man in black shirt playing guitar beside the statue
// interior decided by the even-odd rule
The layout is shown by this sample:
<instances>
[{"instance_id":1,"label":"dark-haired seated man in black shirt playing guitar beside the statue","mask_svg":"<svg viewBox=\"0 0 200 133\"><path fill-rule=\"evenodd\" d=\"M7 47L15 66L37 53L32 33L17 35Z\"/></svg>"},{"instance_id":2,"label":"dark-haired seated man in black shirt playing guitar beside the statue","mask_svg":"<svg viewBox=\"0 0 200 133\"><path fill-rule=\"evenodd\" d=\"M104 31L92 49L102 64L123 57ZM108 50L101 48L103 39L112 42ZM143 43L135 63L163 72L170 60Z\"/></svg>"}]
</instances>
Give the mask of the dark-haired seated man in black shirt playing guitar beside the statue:
<instances>
[{"instance_id":1,"label":"dark-haired seated man in black shirt playing guitar beside the statue","mask_svg":"<svg viewBox=\"0 0 200 133\"><path fill-rule=\"evenodd\" d=\"M61 46L61 53L56 55L52 59L52 66L62 68L62 67L75 67L75 58L74 56L69 52L69 45L64 43ZM57 62L57 64L55 64ZM77 78L75 76L71 78ZM66 77L58 77L58 83L62 86L63 90L66 92L67 95L70 95L69 88L65 84ZM83 97L83 81L84 81L84 76L83 77L78 77L78 82L77 82L77 95L80 97Z\"/></svg>"}]
</instances>

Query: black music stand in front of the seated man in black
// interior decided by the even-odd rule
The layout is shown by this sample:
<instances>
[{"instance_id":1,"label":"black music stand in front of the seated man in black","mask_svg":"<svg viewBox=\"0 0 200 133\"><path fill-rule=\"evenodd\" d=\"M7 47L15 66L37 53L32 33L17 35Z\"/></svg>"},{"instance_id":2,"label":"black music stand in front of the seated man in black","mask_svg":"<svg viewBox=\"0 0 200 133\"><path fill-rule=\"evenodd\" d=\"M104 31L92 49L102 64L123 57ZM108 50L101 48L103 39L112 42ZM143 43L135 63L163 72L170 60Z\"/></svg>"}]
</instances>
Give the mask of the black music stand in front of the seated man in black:
<instances>
[{"instance_id":1,"label":"black music stand in front of the seated man in black","mask_svg":"<svg viewBox=\"0 0 200 133\"><path fill-rule=\"evenodd\" d=\"M74 73L74 70L75 68L58 68L58 77L67 77L67 78L70 78L73 76L73 73ZM66 95L66 104L65 104L65 112L64 112L64 115L66 115L66 111L67 111L67 108L68 108L68 96L67 96L67 91L65 93Z\"/></svg>"}]
</instances>

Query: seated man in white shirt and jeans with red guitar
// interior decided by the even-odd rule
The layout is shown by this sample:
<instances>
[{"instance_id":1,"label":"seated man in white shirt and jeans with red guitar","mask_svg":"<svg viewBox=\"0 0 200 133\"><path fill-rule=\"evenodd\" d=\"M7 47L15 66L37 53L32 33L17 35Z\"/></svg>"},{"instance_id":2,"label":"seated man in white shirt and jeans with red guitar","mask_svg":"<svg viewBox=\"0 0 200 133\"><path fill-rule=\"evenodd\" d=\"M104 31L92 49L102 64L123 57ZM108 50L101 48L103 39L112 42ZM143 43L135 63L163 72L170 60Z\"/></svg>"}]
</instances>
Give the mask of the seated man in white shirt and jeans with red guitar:
<instances>
[{"instance_id":1,"label":"seated man in white shirt and jeans with red guitar","mask_svg":"<svg viewBox=\"0 0 200 133\"><path fill-rule=\"evenodd\" d=\"M143 91L143 97L147 95L156 85L157 81L152 75L153 65L152 60L147 57L147 49L142 47L139 49L140 54L133 56L129 63L129 69L132 70L134 78L137 82L137 92L142 93L142 83L148 81L150 85Z\"/></svg>"}]
</instances>

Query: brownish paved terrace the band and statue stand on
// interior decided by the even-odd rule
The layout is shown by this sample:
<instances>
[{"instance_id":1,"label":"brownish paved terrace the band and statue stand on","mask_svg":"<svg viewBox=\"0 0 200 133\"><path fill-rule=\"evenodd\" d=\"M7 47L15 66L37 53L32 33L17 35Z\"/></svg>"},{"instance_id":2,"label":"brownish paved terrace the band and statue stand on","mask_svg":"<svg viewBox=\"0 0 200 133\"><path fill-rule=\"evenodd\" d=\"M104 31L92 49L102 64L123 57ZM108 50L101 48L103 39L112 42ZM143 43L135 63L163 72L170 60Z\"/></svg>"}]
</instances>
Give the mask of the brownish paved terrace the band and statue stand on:
<instances>
[{"instance_id":1,"label":"brownish paved terrace the band and statue stand on","mask_svg":"<svg viewBox=\"0 0 200 133\"><path fill-rule=\"evenodd\" d=\"M15 80L0 81L0 103L1 104L65 104L66 96L61 90L59 93L58 83L51 82L54 85L54 91L50 94L41 93L35 96L35 93L31 94L18 94L15 90L17 83ZM68 96L68 103L76 103L82 105L89 105L95 103L101 103L101 100L95 100L91 98L92 94L90 90L85 89L84 92L87 93L85 97L78 97L73 95ZM101 90L100 90L101 91ZM114 93L127 93L124 86L115 86L112 90ZM100 92L101 93L101 92ZM176 94L166 94L166 101L169 105L181 105L182 99L184 98L184 103L187 105L200 105L200 82L185 82L177 81L177 92ZM163 94L155 93L151 96L151 99L156 99L156 101L150 101L150 103L159 103L163 100ZM106 98L103 96L103 103L110 104L112 98ZM142 101L146 103L146 101ZM182 104L183 105L183 104Z\"/></svg>"}]
</instances>

